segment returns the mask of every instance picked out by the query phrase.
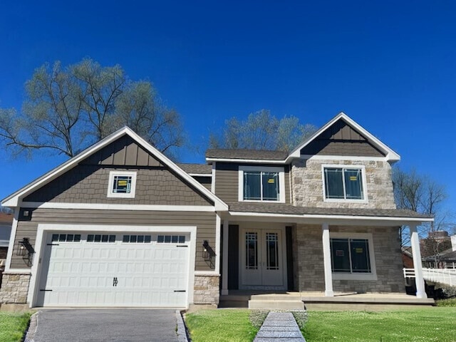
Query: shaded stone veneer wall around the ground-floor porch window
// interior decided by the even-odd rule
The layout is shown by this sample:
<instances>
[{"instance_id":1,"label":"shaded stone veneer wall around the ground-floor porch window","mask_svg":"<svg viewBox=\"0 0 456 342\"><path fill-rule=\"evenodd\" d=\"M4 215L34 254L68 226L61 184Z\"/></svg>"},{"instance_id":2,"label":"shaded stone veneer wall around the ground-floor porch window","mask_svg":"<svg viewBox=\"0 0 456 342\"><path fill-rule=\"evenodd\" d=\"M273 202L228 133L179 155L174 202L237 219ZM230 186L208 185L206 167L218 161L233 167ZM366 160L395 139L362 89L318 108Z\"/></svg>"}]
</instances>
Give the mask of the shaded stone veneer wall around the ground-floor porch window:
<instances>
[{"instance_id":1,"label":"shaded stone veneer wall around the ground-floor porch window","mask_svg":"<svg viewBox=\"0 0 456 342\"><path fill-rule=\"evenodd\" d=\"M371 233L377 280L335 280L334 291L371 293L404 292L398 227L329 227L331 232ZM321 226L298 225L294 230L298 270L296 290L324 291Z\"/></svg>"}]
</instances>

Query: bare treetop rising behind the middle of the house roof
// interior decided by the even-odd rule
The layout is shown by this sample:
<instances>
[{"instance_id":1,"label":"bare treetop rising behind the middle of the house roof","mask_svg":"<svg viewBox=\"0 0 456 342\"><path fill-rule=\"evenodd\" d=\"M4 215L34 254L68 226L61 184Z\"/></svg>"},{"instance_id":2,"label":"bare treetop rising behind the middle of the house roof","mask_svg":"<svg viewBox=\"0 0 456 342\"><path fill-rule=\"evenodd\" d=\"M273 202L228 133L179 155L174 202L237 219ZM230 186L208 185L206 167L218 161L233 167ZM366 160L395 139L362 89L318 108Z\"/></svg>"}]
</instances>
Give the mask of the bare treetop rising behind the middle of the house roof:
<instances>
[{"instance_id":1,"label":"bare treetop rising behind the middle of the house roof","mask_svg":"<svg viewBox=\"0 0 456 342\"><path fill-rule=\"evenodd\" d=\"M263 109L249 114L244 121L237 118L225 121L223 132L210 136L209 147L289 152L315 130L314 125L299 123L299 118L278 119Z\"/></svg>"}]
</instances>

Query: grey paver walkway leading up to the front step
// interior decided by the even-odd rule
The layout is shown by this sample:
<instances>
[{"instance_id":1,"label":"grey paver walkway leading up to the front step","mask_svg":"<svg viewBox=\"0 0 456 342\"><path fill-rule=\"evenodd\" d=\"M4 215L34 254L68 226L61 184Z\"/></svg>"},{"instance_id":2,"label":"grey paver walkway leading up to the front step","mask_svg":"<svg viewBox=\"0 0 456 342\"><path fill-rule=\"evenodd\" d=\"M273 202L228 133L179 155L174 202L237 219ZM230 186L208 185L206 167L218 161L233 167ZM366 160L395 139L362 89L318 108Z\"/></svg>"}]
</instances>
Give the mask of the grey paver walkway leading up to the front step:
<instances>
[{"instance_id":1,"label":"grey paver walkway leading up to the front step","mask_svg":"<svg viewBox=\"0 0 456 342\"><path fill-rule=\"evenodd\" d=\"M291 312L269 312L254 342L306 342Z\"/></svg>"}]
</instances>

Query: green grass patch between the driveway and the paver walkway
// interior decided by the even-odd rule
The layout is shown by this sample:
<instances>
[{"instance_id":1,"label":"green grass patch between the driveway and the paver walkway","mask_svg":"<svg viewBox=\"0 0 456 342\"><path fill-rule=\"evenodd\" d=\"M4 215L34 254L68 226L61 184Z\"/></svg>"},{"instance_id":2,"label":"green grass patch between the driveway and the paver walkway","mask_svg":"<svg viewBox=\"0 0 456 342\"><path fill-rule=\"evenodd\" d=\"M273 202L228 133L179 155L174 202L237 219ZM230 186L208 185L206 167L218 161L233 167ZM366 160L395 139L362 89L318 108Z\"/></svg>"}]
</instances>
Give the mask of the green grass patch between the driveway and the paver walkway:
<instances>
[{"instance_id":1,"label":"green grass patch between the driveway and the paver walkway","mask_svg":"<svg viewBox=\"0 0 456 342\"><path fill-rule=\"evenodd\" d=\"M249 316L247 309L201 310L186 314L185 323L192 342L253 341L259 328L252 325ZM258 323L259 316L254 318L257 326L262 323Z\"/></svg>"}]
</instances>

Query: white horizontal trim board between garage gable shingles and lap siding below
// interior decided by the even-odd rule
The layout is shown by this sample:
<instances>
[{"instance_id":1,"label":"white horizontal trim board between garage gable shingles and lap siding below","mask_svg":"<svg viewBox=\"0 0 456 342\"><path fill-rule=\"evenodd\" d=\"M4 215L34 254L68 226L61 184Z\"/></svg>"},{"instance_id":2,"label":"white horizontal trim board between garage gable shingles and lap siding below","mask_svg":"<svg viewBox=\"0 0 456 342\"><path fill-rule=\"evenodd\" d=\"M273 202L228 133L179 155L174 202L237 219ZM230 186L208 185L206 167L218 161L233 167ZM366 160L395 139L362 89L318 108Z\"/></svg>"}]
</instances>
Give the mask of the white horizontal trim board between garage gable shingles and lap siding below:
<instances>
[{"instance_id":1,"label":"white horizontal trim board between garage gable shingles and lap siding below","mask_svg":"<svg viewBox=\"0 0 456 342\"><path fill-rule=\"evenodd\" d=\"M106 203L58 203L23 202L22 207L40 209L93 209L93 210L144 210L163 212L214 212L209 205L154 205L154 204L106 204Z\"/></svg>"}]
</instances>

